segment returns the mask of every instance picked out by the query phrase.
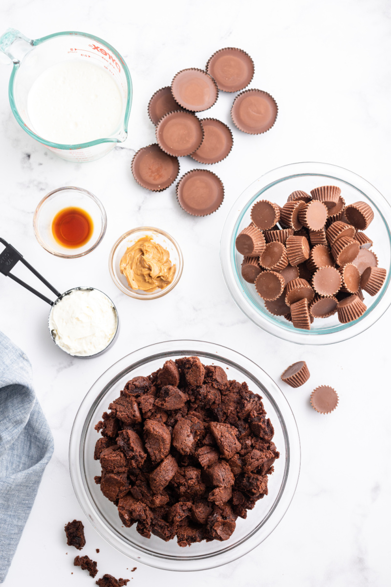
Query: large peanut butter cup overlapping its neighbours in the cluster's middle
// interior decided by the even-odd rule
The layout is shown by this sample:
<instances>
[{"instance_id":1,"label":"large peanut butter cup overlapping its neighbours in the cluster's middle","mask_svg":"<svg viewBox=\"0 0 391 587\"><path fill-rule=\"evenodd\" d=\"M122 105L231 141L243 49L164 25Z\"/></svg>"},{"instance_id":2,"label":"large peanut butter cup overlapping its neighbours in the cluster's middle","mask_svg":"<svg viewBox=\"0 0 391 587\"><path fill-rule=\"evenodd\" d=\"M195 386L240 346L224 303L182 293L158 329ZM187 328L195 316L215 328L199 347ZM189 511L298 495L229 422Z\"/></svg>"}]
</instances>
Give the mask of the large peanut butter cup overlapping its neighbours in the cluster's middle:
<instances>
[{"instance_id":1,"label":"large peanut butter cup overlapping its neighbours in the cluster's middle","mask_svg":"<svg viewBox=\"0 0 391 587\"><path fill-rule=\"evenodd\" d=\"M203 128L191 112L175 110L159 120L156 127L159 147L174 157L191 155L203 140Z\"/></svg>"}]
</instances>

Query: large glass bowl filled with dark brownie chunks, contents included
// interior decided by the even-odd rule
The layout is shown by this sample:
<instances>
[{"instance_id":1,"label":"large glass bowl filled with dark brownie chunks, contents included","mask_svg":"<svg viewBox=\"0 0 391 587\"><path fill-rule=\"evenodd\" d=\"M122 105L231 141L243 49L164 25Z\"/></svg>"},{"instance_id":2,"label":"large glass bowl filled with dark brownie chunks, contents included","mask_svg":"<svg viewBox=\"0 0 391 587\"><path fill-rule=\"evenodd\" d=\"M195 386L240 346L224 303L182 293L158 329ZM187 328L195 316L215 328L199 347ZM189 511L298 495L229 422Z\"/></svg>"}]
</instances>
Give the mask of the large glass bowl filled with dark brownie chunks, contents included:
<instances>
[{"instance_id":1,"label":"large glass bowl filled with dark brownie chunks, contents included","mask_svg":"<svg viewBox=\"0 0 391 587\"><path fill-rule=\"evenodd\" d=\"M276 528L297 485L300 440L258 365L173 340L136 350L94 383L69 463L77 499L109 544L150 566L198 571Z\"/></svg>"}]
</instances>

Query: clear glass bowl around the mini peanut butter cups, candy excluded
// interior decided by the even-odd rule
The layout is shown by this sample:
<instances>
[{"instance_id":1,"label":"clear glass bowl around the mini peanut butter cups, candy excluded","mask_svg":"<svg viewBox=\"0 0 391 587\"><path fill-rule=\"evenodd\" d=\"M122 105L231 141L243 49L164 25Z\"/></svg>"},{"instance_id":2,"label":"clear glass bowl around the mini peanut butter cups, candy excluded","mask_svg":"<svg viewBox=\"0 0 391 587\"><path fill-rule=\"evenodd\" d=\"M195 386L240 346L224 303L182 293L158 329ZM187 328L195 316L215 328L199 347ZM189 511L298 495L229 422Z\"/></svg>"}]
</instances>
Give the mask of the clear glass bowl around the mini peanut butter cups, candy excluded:
<instances>
[{"instance_id":1,"label":"clear glass bowl around the mini peanut butter cups, candy excluded","mask_svg":"<svg viewBox=\"0 0 391 587\"><path fill-rule=\"evenodd\" d=\"M241 272L243 255L236 251L236 237L251 222L251 207L257 200L270 200L283 206L295 190L310 193L320 185L338 185L346 205L364 201L375 217L364 232L373 238L373 252L379 267L387 271L386 281L375 296L363 292L366 312L353 322L341 324L338 316L315 319L311 330L294 328L283 316L273 316L264 306L254 285L244 281ZM361 176L328 163L292 163L278 167L254 181L231 208L222 232L220 259L223 276L234 302L257 326L278 338L301 345L329 345L353 338L372 326L391 303L391 207L372 184Z\"/></svg>"}]
</instances>

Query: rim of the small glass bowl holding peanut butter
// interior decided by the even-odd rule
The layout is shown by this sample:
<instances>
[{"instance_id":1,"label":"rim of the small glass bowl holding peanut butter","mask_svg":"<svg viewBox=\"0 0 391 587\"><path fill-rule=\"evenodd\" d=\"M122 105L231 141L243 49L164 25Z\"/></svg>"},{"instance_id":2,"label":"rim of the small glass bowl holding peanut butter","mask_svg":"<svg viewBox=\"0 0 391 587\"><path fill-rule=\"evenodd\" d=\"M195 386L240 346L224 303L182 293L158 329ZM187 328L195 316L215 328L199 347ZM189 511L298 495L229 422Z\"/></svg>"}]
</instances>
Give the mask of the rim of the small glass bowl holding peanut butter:
<instances>
[{"instance_id":1,"label":"rim of the small glass bowl holding peanut butter","mask_svg":"<svg viewBox=\"0 0 391 587\"><path fill-rule=\"evenodd\" d=\"M152 232L152 233L157 232L158 234L161 234L163 237L168 238L168 240L174 245L174 248L175 248L176 252L178 253L178 258L179 258L178 265L179 266L176 268L174 280L166 288L158 289L156 292L151 292L151 294L148 294L148 295L138 294L137 293L138 289L132 290L130 288L127 288L123 283L121 283L117 279L117 275L115 275L115 269L113 266L115 251L117 251L117 248L122 244L122 242L126 238L130 237L135 232ZM181 275L182 275L182 271L183 271L183 255L182 255L181 248L178 245L178 242L176 242L175 238L172 237L170 234L168 234L168 232L166 232L165 230L161 230L161 228L155 228L153 226L140 226L138 228L132 228L132 230L128 230L127 232L124 232L124 234L121 235L120 238L118 238L117 241L114 242L114 245L110 251L110 256L108 258L108 269L110 271L111 279L113 279L115 285L117 286L118 289L121 290L121 292L123 292L123 294L126 294L126 295L130 296L131 298L135 298L135 299L142 299L142 300L157 299L157 298L161 298L162 296L171 292L175 288L175 286L178 284L179 279L181 279Z\"/></svg>"}]
</instances>

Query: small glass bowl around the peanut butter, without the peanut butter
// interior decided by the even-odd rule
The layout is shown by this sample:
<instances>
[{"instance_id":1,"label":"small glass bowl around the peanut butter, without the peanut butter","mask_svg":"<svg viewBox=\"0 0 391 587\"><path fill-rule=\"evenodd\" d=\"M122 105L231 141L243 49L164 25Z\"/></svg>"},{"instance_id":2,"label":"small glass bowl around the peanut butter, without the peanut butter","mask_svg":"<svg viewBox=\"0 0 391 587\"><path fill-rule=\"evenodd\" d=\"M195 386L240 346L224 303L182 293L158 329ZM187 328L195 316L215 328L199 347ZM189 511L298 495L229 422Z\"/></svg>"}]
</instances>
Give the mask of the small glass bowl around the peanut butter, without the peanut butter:
<instances>
[{"instance_id":1,"label":"small glass bowl around the peanut butter, without the peanut butter","mask_svg":"<svg viewBox=\"0 0 391 587\"><path fill-rule=\"evenodd\" d=\"M127 279L123 274L121 274L120 271L120 261L126 252L126 249L131 247L131 245L138 241L139 238L146 236L152 237L155 242L165 248L169 252L170 261L172 264L176 265L174 279L172 280L171 284L166 286L164 289L157 289L153 292L144 292L141 289L130 288ZM183 256L178 242L176 242L175 239L168 234L168 232L165 232L160 228L141 226L125 232L125 234L118 238L118 240L114 243L113 248L110 251L110 257L108 259L108 268L110 269L110 275L115 285L124 294L130 296L131 298L137 299L156 299L168 294L168 292L171 292L172 289L175 288L175 285L178 284L183 271Z\"/></svg>"}]
</instances>

